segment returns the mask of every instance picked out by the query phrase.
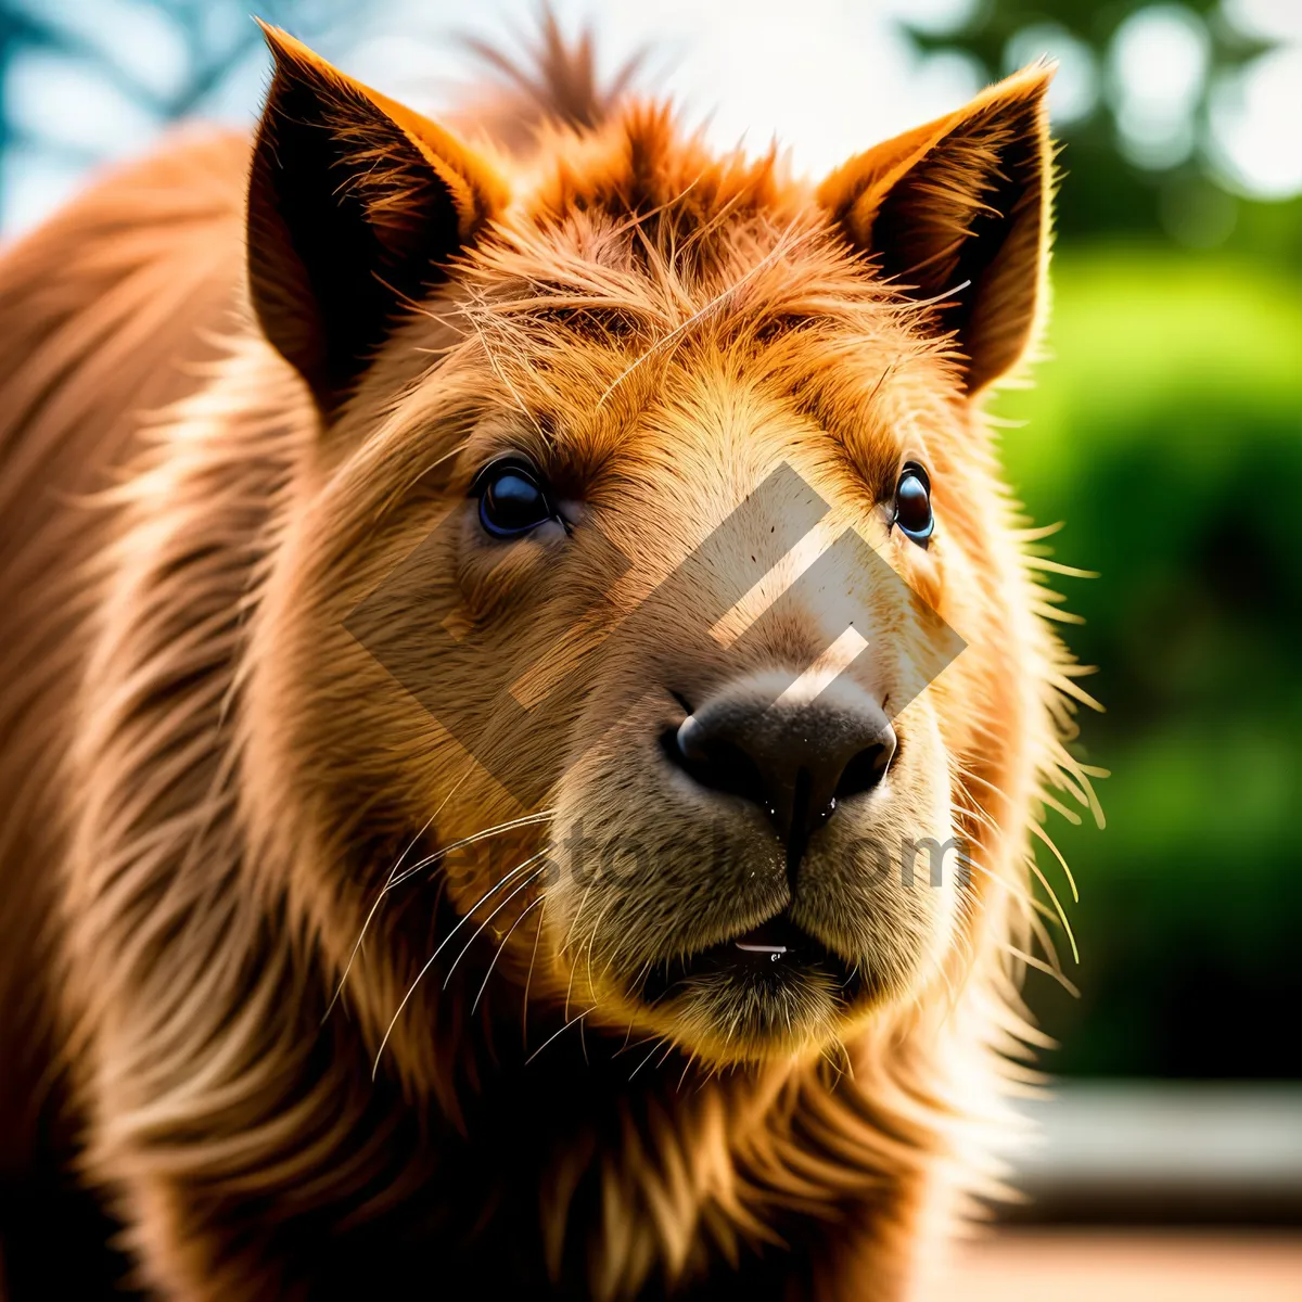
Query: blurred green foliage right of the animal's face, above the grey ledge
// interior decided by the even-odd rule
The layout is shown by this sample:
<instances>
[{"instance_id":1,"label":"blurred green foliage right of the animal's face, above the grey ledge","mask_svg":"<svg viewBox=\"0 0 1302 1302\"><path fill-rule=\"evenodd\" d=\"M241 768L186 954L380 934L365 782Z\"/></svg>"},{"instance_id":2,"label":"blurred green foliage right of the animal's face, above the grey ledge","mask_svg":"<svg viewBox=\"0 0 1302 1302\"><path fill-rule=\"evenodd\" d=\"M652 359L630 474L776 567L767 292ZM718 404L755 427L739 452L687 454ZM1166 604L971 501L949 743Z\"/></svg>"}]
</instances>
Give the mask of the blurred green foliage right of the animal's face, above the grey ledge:
<instances>
[{"instance_id":1,"label":"blurred green foliage right of the animal's face, above the grey ledge","mask_svg":"<svg viewBox=\"0 0 1302 1302\"><path fill-rule=\"evenodd\" d=\"M1107 707L1078 751L1112 776L1105 831L1051 814L1082 997L1035 978L1031 1001L1055 1070L1295 1075L1302 296L1151 245L1065 246L1055 286L1055 359L995 410L1022 422L1004 434L1021 500L1066 521L1056 559L1100 572L1056 586Z\"/></svg>"}]
</instances>

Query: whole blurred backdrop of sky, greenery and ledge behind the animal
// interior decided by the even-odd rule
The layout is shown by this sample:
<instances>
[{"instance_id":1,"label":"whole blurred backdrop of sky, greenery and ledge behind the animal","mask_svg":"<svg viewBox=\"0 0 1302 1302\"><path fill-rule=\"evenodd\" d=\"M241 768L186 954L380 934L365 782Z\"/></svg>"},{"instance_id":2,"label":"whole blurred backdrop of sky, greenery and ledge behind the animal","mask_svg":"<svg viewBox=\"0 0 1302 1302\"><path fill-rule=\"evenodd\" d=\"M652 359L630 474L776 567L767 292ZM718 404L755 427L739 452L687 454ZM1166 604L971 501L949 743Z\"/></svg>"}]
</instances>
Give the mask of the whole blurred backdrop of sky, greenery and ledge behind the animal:
<instances>
[{"instance_id":1,"label":"whole blurred backdrop of sky, greenery and ledge behind the animal","mask_svg":"<svg viewBox=\"0 0 1302 1302\"><path fill-rule=\"evenodd\" d=\"M0 0L0 233L173 118L251 125L267 56L249 8ZM458 34L518 51L538 22L508 0L253 8L428 111L473 79ZM1302 0L556 9L570 31L592 22L611 72L644 47L641 83L720 145L776 134L815 176L1040 55L1060 61L1051 357L995 410L1019 499L1065 521L1055 557L1100 573L1059 587L1085 618L1068 641L1104 667L1088 685L1107 712L1082 721L1077 751L1112 776L1105 831L1051 816L1079 902L1042 854L1079 993L1032 974L1030 1003L1062 1044L1044 1064L1066 1085L1042 1105L1048 1148L1022 1168L1039 1200L1021 1216L1298 1224ZM1064 1277L1069 1245L1018 1242L1026 1279L1048 1263L1056 1297L1090 1277L1079 1263ZM1117 1258L1107 1242L1122 1292L1168 1295L1180 1269L1186 1302L1199 1281L1220 1288L1220 1258L1187 1243L1150 1236ZM1258 1295L1253 1279L1262 1297L1302 1297L1298 1258L1271 1256L1280 1242L1206 1295ZM997 1262L1001 1295L1032 1295ZM1272 1272L1284 1292L1268 1292Z\"/></svg>"}]
</instances>

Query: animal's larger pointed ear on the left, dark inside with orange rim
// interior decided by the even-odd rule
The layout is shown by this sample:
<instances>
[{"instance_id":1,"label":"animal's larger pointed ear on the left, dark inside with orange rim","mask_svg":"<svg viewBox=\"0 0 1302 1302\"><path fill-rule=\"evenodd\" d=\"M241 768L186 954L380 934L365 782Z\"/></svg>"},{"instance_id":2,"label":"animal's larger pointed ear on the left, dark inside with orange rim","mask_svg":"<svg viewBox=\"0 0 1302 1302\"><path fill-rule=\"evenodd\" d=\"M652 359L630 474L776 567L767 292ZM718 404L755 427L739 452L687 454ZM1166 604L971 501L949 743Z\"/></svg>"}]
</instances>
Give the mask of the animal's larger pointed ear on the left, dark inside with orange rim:
<instances>
[{"instance_id":1,"label":"animal's larger pointed ear on the left, dark inside with orange rim","mask_svg":"<svg viewBox=\"0 0 1302 1302\"><path fill-rule=\"evenodd\" d=\"M434 122L262 27L276 68L249 182L250 293L329 418L506 187Z\"/></svg>"}]
</instances>

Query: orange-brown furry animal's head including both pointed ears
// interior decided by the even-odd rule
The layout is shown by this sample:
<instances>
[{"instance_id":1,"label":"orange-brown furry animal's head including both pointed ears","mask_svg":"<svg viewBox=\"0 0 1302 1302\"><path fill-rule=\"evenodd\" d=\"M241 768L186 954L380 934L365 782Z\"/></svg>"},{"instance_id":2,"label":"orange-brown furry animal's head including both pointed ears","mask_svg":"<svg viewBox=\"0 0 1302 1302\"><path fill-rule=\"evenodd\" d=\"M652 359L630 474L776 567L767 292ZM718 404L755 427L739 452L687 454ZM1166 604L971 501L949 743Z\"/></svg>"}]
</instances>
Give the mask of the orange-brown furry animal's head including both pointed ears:
<instances>
[{"instance_id":1,"label":"orange-brown furry animal's head including both pointed ears","mask_svg":"<svg viewBox=\"0 0 1302 1302\"><path fill-rule=\"evenodd\" d=\"M652 103L471 147L268 39L250 292L319 432L242 799L371 1046L428 1085L487 992L727 1064L944 1001L1053 745L979 418L1049 73L815 187Z\"/></svg>"}]
</instances>

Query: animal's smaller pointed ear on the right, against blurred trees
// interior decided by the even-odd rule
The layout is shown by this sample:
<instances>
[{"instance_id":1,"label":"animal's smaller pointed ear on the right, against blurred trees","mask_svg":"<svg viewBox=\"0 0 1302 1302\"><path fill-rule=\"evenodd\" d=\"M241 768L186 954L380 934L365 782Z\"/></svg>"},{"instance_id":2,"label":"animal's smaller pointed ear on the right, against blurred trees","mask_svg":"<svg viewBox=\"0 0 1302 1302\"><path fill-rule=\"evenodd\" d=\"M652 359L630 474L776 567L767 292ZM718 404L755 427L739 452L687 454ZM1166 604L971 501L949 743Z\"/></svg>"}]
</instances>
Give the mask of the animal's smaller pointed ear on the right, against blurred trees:
<instances>
[{"instance_id":1,"label":"animal's smaller pointed ear on the right, against blurred trees","mask_svg":"<svg viewBox=\"0 0 1302 1302\"><path fill-rule=\"evenodd\" d=\"M935 303L966 358L969 393L1034 337L1048 258L1052 69L1029 68L958 112L850 159L819 201L913 297Z\"/></svg>"}]
</instances>

